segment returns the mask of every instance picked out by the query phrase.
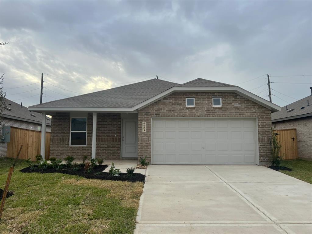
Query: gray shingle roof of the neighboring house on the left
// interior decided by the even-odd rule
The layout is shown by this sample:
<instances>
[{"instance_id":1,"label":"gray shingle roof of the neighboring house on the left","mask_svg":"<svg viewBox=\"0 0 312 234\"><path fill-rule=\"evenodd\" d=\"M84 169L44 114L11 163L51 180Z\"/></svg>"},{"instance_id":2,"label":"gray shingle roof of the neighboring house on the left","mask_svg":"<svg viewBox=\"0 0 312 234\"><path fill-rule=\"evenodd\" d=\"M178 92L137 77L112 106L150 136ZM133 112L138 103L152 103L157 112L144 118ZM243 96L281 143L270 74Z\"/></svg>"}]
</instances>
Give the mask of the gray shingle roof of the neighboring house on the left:
<instances>
[{"instance_id":1,"label":"gray shingle roof of the neighboring house on the left","mask_svg":"<svg viewBox=\"0 0 312 234\"><path fill-rule=\"evenodd\" d=\"M31 112L26 106L22 106L16 102L4 98L6 109L2 111L2 116L8 119L17 119L25 122L38 123L41 124L41 114L36 112ZM9 110L11 109L11 110ZM35 116L32 116L32 115ZM51 119L46 119L46 124L51 125Z\"/></svg>"}]
</instances>

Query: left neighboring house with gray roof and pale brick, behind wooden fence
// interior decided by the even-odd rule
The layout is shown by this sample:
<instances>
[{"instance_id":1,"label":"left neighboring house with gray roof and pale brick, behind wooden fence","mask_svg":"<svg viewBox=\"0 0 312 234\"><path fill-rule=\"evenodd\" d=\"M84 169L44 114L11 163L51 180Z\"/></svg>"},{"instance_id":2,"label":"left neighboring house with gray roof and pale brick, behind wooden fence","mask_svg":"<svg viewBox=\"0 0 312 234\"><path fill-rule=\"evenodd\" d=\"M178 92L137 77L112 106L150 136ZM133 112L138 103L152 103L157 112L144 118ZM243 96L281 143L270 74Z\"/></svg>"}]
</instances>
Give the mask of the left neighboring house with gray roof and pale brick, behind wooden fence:
<instances>
[{"instance_id":1,"label":"left neighboring house with gray roof and pale brick, behind wooden fence","mask_svg":"<svg viewBox=\"0 0 312 234\"><path fill-rule=\"evenodd\" d=\"M41 114L31 112L26 106L4 98L6 108L2 112L2 126L29 130L41 130ZM51 119L47 117L46 131L51 131ZM0 128L2 132L2 127ZM7 156L7 143L0 142L0 157Z\"/></svg>"}]
</instances>

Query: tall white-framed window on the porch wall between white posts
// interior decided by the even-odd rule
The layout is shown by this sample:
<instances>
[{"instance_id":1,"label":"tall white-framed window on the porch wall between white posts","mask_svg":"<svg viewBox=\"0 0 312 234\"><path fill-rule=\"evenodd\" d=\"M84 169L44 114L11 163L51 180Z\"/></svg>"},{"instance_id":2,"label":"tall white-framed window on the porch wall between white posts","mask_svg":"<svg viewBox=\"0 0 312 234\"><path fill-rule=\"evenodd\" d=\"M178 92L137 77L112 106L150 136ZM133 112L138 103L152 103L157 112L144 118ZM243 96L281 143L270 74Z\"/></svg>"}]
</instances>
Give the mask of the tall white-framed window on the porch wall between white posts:
<instances>
[{"instance_id":1,"label":"tall white-framed window on the porch wall between white posts","mask_svg":"<svg viewBox=\"0 0 312 234\"><path fill-rule=\"evenodd\" d=\"M70 146L87 145L87 118L71 118Z\"/></svg>"}]
</instances>

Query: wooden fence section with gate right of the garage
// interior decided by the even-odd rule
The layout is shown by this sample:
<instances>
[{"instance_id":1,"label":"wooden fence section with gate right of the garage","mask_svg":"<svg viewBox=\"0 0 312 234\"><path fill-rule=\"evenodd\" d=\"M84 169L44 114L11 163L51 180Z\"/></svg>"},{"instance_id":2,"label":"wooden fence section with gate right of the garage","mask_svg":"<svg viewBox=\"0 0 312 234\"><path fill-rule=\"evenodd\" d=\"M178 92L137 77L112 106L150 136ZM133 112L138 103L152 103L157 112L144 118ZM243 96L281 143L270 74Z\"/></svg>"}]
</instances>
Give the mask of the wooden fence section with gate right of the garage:
<instances>
[{"instance_id":1,"label":"wooden fence section with gate right of the garage","mask_svg":"<svg viewBox=\"0 0 312 234\"><path fill-rule=\"evenodd\" d=\"M283 159L298 158L296 129L274 130L274 132L278 134L276 135L277 140L280 141L282 145L282 148L280 149L280 156Z\"/></svg>"}]
</instances>

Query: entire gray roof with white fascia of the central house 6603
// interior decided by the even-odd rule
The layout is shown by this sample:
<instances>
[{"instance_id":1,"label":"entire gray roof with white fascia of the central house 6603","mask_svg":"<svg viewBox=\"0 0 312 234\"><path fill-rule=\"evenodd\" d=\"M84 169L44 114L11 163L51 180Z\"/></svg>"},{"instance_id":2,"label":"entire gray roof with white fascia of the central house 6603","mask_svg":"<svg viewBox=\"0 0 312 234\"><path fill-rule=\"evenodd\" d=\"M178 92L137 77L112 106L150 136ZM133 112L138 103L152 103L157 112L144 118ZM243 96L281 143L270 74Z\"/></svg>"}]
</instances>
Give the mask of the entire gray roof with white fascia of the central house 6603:
<instances>
[{"instance_id":1,"label":"entire gray roof with white fascia of the central house 6603","mask_svg":"<svg viewBox=\"0 0 312 234\"><path fill-rule=\"evenodd\" d=\"M146 80L131 85L124 85L94 93L33 105L29 107L29 110L47 113L69 111L137 112L145 106L173 92L210 91L236 92L260 105L266 106L272 111L280 110L279 106L238 86L201 78L182 85L158 79Z\"/></svg>"}]
</instances>

